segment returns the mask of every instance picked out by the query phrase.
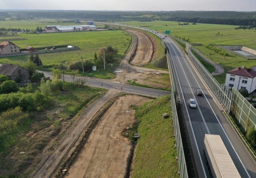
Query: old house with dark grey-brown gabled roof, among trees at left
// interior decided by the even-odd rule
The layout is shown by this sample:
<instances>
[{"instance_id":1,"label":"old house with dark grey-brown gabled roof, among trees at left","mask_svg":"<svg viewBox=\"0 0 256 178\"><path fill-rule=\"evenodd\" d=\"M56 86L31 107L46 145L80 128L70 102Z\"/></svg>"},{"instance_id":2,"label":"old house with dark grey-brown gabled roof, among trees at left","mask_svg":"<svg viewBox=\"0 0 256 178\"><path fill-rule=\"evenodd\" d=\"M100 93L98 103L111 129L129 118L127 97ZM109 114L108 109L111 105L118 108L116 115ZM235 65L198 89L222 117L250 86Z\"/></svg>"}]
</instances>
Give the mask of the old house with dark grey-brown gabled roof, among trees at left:
<instances>
[{"instance_id":1,"label":"old house with dark grey-brown gabled roof, among trees at left","mask_svg":"<svg viewBox=\"0 0 256 178\"><path fill-rule=\"evenodd\" d=\"M0 67L0 74L8 76L11 80L20 78L21 81L25 81L29 79L28 70L13 64L2 64L2 66Z\"/></svg>"}]
</instances>

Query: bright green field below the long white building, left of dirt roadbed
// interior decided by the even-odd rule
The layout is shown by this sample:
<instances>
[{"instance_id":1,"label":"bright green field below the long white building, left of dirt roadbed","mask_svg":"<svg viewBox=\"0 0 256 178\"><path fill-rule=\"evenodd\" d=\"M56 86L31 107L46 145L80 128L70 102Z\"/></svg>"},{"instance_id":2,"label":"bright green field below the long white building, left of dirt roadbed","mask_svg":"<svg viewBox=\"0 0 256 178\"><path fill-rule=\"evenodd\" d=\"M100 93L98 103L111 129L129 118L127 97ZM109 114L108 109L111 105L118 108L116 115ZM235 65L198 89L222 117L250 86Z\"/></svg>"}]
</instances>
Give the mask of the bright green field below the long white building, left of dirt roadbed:
<instances>
[{"instance_id":1,"label":"bright green field below the long white building, left of dirt roadbed","mask_svg":"<svg viewBox=\"0 0 256 178\"><path fill-rule=\"evenodd\" d=\"M84 59L93 59L94 53L100 48L112 46L119 50L118 55L123 56L129 47L131 37L123 31L87 31L70 33L43 33L43 34L19 34L9 37L0 37L0 41L12 41L20 48L27 46L43 47L70 44L78 46L80 50L50 52L39 54L44 65L57 65L61 62ZM21 64L27 61L29 55L0 58L0 63Z\"/></svg>"}]
</instances>

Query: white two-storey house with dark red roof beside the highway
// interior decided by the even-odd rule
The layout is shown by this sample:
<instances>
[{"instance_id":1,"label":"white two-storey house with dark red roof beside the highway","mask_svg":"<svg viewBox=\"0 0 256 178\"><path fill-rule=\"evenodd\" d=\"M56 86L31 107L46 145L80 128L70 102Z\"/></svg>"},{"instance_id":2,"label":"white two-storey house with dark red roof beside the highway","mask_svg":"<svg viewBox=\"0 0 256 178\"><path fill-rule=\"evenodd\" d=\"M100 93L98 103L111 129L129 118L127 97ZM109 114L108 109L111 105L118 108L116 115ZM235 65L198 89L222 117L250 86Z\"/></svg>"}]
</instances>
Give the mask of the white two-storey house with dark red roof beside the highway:
<instances>
[{"instance_id":1,"label":"white two-storey house with dark red roof beside the highway","mask_svg":"<svg viewBox=\"0 0 256 178\"><path fill-rule=\"evenodd\" d=\"M225 86L242 88L252 93L256 90L256 71L245 67L237 67L226 74Z\"/></svg>"}]
</instances>

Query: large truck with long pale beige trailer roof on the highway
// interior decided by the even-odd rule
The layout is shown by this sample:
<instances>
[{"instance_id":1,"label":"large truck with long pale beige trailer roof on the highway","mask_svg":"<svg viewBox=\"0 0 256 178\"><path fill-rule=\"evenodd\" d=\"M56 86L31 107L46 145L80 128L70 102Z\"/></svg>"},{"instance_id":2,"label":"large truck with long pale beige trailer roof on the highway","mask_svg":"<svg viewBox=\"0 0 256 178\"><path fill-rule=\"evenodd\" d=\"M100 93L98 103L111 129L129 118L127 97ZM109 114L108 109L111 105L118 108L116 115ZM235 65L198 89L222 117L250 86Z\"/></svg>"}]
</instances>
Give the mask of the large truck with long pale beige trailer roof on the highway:
<instances>
[{"instance_id":1,"label":"large truck with long pale beige trailer roof on the highway","mask_svg":"<svg viewBox=\"0 0 256 178\"><path fill-rule=\"evenodd\" d=\"M220 135L205 134L203 152L212 177L241 177Z\"/></svg>"}]
</instances>

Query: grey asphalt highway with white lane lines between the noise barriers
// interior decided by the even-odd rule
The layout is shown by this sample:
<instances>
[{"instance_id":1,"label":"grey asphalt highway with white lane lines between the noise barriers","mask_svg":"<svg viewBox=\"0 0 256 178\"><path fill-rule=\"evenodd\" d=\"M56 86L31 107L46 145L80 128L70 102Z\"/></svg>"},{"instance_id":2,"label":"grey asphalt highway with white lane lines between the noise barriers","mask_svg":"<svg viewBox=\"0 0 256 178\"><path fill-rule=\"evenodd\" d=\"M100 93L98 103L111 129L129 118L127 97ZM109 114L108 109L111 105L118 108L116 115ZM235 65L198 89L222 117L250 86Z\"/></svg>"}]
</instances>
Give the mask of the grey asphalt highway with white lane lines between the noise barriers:
<instances>
[{"instance_id":1,"label":"grey asphalt highway with white lane lines between the noise barriers","mask_svg":"<svg viewBox=\"0 0 256 178\"><path fill-rule=\"evenodd\" d=\"M160 35L163 37L163 34ZM205 134L215 134L221 136L241 177L256 177L255 162L224 117L223 108L209 92L209 88L201 79L194 65L190 63L187 55L171 38L165 37L163 40L166 42L172 58L183 116L197 165L198 176L210 177L203 154L203 140ZM197 89L203 91L203 96L195 94ZM188 99L190 98L196 100L197 108L189 107Z\"/></svg>"}]
</instances>

